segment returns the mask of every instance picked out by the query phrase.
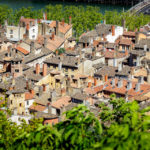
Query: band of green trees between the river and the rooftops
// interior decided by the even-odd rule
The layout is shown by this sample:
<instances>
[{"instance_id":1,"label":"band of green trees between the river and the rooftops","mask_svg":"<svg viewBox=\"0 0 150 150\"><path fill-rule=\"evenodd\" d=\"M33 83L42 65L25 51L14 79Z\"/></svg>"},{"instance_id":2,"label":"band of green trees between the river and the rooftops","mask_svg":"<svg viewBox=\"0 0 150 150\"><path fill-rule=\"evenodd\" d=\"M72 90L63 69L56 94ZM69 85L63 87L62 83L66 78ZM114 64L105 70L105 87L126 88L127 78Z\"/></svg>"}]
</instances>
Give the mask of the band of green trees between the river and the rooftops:
<instances>
[{"instance_id":1,"label":"band of green trees between the river and the rooftops","mask_svg":"<svg viewBox=\"0 0 150 150\"><path fill-rule=\"evenodd\" d=\"M49 20L65 19L69 22L69 16L72 17L74 36L79 37L83 32L92 30L95 25L102 20L106 20L107 24L121 25L122 19L126 19L126 26L129 30L139 29L140 26L147 24L150 21L149 15L133 15L129 12L106 11L103 15L98 7L93 6L65 6L62 5L47 5L44 9L33 10L31 7L20 8L13 11L7 6L0 6L0 24L8 19L10 24L17 25L21 16L26 18L42 18L43 12L47 12Z\"/></svg>"}]
</instances>

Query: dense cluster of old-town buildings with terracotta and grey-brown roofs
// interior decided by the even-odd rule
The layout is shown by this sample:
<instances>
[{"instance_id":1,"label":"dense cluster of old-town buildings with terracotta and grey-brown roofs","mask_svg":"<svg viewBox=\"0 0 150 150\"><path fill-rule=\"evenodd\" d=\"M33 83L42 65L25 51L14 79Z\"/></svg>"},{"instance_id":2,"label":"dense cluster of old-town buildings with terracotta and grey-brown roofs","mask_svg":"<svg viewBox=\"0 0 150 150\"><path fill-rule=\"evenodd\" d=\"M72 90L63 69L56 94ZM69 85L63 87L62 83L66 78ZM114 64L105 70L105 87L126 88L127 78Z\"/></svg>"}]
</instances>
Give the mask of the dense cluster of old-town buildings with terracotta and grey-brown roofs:
<instances>
[{"instance_id":1,"label":"dense cluster of old-town buildings with terracotta and grey-brown roofs","mask_svg":"<svg viewBox=\"0 0 150 150\"><path fill-rule=\"evenodd\" d=\"M17 124L33 117L56 124L81 103L97 116L97 104L109 103L113 93L149 105L150 23L128 31L125 20L122 26L104 21L77 40L71 21L47 20L44 13L1 26L0 104L7 98L1 110L8 107Z\"/></svg>"}]
</instances>

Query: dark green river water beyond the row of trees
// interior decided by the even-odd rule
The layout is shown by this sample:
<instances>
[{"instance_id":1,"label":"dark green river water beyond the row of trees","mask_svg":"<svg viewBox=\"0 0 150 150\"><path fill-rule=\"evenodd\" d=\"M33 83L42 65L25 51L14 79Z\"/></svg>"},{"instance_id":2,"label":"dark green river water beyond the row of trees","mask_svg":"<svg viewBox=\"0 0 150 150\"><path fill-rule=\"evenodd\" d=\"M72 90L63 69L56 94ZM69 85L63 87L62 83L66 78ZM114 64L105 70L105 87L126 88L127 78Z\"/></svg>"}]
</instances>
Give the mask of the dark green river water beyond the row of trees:
<instances>
[{"instance_id":1,"label":"dark green river water beyond the row of trees","mask_svg":"<svg viewBox=\"0 0 150 150\"><path fill-rule=\"evenodd\" d=\"M104 13L106 10L117 10L122 11L128 10L129 6L121 6L121 5L110 5L110 4L96 4L96 3L77 3L77 2L63 2L63 1L56 1L56 0L0 0L0 5L8 5L12 9L19 9L21 7L33 7L33 9L41 9L44 8L46 5L56 5L62 4L63 6L66 5L82 5L82 6L97 6L100 8L100 11Z\"/></svg>"}]
</instances>

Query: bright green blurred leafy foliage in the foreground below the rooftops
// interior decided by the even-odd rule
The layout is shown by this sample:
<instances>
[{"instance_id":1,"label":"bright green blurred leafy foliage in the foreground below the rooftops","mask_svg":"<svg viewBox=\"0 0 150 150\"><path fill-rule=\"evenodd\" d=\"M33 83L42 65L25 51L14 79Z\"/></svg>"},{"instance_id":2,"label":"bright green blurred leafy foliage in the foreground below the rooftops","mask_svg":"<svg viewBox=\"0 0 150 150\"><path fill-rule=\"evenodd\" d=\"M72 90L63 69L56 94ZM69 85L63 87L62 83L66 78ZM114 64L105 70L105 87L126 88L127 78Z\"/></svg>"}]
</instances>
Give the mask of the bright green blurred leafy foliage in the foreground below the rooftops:
<instances>
[{"instance_id":1,"label":"bright green blurred leafy foliage in the foreground below the rooftops","mask_svg":"<svg viewBox=\"0 0 150 150\"><path fill-rule=\"evenodd\" d=\"M133 101L111 97L111 107L102 103L100 120L79 105L65 112L65 120L54 126L43 126L38 120L20 126L7 120L0 112L1 149L106 149L148 150L150 147L150 116Z\"/></svg>"}]
</instances>

